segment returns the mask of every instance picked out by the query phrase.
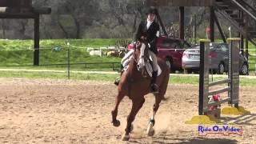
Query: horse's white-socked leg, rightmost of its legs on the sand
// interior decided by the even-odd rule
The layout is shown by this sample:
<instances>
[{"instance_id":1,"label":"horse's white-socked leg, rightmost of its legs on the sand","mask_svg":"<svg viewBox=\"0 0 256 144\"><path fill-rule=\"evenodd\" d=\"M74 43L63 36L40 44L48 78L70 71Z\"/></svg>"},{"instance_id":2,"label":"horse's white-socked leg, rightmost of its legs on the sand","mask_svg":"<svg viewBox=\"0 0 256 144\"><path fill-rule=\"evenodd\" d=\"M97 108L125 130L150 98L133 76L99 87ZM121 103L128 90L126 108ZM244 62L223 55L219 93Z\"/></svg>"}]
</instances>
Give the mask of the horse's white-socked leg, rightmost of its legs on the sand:
<instances>
[{"instance_id":1,"label":"horse's white-socked leg, rightmost of its legs on the sand","mask_svg":"<svg viewBox=\"0 0 256 144\"><path fill-rule=\"evenodd\" d=\"M155 103L154 103L154 106L153 106L153 114L152 114L152 116L150 118L149 125L148 125L148 127L146 129L146 134L148 136L153 136L154 135L154 128L153 128L154 123L155 123L154 117L155 117L155 114L158 111L160 102L161 102L161 99L158 97L158 95L155 95Z\"/></svg>"}]
</instances>

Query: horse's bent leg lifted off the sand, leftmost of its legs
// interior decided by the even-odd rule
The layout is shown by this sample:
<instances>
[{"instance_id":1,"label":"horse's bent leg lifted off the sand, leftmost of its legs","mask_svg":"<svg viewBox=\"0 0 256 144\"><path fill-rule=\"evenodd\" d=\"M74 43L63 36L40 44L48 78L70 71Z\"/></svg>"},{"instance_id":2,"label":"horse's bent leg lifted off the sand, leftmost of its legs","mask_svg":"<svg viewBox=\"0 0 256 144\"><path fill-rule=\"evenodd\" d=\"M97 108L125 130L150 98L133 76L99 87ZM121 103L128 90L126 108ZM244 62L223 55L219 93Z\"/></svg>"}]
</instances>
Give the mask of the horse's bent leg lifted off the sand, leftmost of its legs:
<instances>
[{"instance_id":1,"label":"horse's bent leg lifted off the sand, leftmost of its legs","mask_svg":"<svg viewBox=\"0 0 256 144\"><path fill-rule=\"evenodd\" d=\"M118 121L118 106L120 102L122 101L122 98L124 98L125 94L122 94L121 92L118 92L118 95L115 97L115 106L114 110L111 111L112 114L112 123L113 126L120 126L120 121Z\"/></svg>"}]
</instances>

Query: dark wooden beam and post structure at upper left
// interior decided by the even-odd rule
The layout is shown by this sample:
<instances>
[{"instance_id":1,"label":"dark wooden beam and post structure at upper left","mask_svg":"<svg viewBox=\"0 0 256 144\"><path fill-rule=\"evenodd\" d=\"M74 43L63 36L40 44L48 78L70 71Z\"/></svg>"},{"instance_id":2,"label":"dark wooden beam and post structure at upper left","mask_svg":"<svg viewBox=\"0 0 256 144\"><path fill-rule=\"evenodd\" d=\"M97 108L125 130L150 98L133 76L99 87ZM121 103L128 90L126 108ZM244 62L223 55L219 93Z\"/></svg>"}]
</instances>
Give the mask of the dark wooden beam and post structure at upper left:
<instances>
[{"instance_id":1,"label":"dark wooden beam and post structure at upper left","mask_svg":"<svg viewBox=\"0 0 256 144\"><path fill-rule=\"evenodd\" d=\"M0 0L0 18L34 19L34 65L39 65L39 15L50 14L50 7L33 7L32 0Z\"/></svg>"}]
</instances>

